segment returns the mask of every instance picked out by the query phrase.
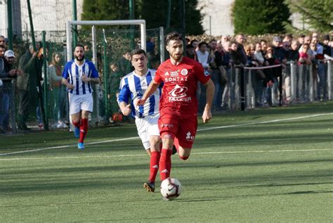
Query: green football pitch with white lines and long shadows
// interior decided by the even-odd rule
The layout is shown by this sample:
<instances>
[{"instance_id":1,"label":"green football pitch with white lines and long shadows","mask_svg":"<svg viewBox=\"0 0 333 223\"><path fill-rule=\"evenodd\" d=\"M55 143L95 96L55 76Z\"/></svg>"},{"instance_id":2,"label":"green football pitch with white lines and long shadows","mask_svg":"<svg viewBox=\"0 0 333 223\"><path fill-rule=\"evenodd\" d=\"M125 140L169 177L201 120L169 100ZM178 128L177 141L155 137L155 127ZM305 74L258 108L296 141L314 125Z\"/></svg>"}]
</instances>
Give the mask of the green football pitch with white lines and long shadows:
<instances>
[{"instance_id":1,"label":"green football pitch with white lines and long shadows","mask_svg":"<svg viewBox=\"0 0 333 223\"><path fill-rule=\"evenodd\" d=\"M332 222L333 102L214 114L186 161L181 196L148 193L134 125L0 137L0 222Z\"/></svg>"}]
</instances>

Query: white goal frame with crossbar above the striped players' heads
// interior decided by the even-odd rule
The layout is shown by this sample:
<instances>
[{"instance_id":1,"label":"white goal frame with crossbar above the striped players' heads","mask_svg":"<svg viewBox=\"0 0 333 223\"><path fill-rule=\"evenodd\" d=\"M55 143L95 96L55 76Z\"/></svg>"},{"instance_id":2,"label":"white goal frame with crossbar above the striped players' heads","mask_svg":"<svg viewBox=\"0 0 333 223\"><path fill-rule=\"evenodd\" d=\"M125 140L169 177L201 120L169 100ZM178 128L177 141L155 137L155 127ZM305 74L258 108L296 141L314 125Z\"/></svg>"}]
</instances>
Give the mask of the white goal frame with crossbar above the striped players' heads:
<instances>
[{"instance_id":1,"label":"white goal frame with crossbar above the striped players' heads","mask_svg":"<svg viewBox=\"0 0 333 223\"><path fill-rule=\"evenodd\" d=\"M145 42L145 20L70 20L66 25L66 44L67 44L67 61L72 59L72 25L140 25L141 31L141 49L146 49Z\"/></svg>"}]
</instances>

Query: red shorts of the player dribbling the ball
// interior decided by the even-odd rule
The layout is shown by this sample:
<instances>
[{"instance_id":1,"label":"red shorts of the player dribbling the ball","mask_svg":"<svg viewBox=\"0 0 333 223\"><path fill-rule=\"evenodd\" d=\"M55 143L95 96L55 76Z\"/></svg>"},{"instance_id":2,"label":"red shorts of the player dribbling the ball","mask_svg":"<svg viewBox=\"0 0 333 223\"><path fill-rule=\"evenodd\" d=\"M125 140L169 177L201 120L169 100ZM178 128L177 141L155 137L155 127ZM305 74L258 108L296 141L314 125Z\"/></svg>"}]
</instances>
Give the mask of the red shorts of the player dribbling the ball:
<instances>
[{"instance_id":1,"label":"red shorts of the player dribbling the ball","mask_svg":"<svg viewBox=\"0 0 333 223\"><path fill-rule=\"evenodd\" d=\"M175 137L183 148L192 148L197 134L197 115L180 116L172 112L160 113L159 134L162 139Z\"/></svg>"}]
</instances>

